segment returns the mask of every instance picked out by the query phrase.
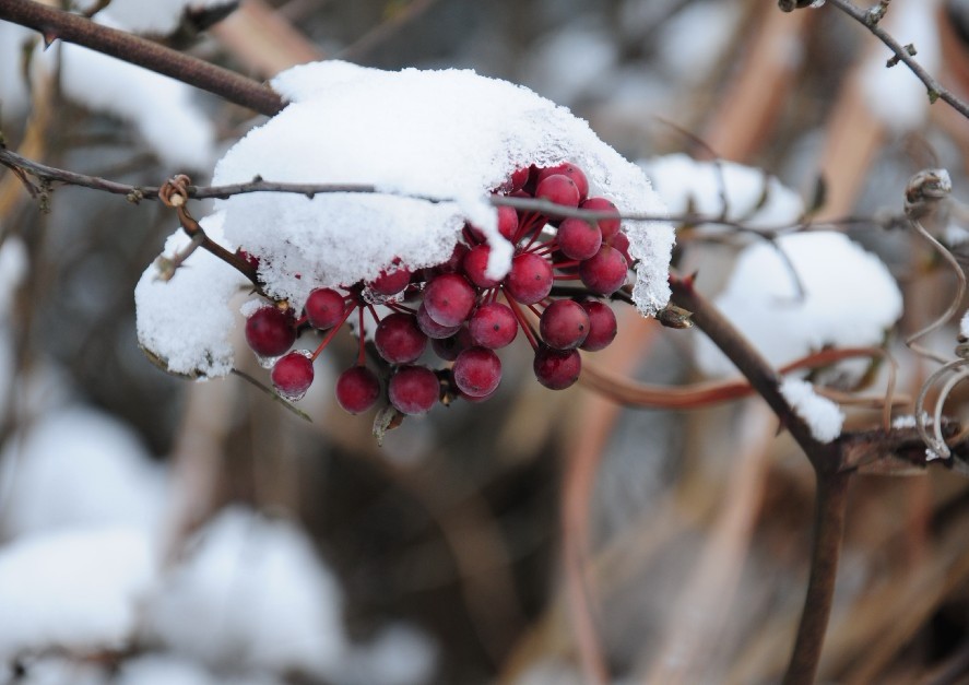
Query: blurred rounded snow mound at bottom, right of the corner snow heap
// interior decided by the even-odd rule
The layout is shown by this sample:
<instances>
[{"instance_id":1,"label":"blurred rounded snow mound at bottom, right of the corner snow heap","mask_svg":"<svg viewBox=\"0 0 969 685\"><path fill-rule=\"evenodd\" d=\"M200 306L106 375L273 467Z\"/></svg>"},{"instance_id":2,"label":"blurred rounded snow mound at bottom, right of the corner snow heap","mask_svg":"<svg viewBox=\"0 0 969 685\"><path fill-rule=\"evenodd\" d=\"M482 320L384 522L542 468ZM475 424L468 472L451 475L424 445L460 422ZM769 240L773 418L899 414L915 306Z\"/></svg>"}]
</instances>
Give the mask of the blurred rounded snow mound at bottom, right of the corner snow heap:
<instances>
[{"instance_id":1,"label":"blurred rounded snow mound at bottom, right of the corner snow heap","mask_svg":"<svg viewBox=\"0 0 969 685\"><path fill-rule=\"evenodd\" d=\"M342 595L294 523L234 507L189 550L147 609L162 643L212 666L323 675L339 662Z\"/></svg>"}]
</instances>

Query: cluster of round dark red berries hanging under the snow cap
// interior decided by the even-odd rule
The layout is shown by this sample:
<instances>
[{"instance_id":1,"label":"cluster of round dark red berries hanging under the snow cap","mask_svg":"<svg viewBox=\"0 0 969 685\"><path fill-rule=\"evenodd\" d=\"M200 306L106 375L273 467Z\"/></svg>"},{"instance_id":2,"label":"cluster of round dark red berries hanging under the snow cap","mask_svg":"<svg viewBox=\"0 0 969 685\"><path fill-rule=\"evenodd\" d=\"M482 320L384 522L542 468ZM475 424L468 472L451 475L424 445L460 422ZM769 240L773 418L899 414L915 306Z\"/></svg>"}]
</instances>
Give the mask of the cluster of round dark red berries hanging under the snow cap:
<instances>
[{"instance_id":1,"label":"cluster of round dark red berries hanging under the snow cap","mask_svg":"<svg viewBox=\"0 0 969 685\"><path fill-rule=\"evenodd\" d=\"M515 246L511 269L500 281L487 274L491 247L483 234L468 225L442 264L414 272L394 264L370 282L317 288L298 318L285 305L259 307L246 322L246 340L272 364L276 391L293 400L303 397L312 383L314 359L354 312L359 332L365 317L376 321L374 345L391 369L387 398L404 414L423 414L442 398L478 402L491 397L501 380L495 351L510 344L519 329L534 350L539 382L554 390L571 386L581 369L578 350L602 350L616 335L612 308L595 296L622 287L631 262L618 212L605 198L590 198L586 175L569 163L521 168L495 192L616 216L557 221L500 206L498 231ZM556 283L576 281L584 287L562 290L578 297L552 296ZM375 303L389 312L380 316ZM297 333L308 327L324 331L319 346L311 353L291 352ZM450 367L435 371L417 364L428 347ZM336 381L336 400L356 414L380 395L380 378L365 365L361 334L356 364Z\"/></svg>"}]
</instances>

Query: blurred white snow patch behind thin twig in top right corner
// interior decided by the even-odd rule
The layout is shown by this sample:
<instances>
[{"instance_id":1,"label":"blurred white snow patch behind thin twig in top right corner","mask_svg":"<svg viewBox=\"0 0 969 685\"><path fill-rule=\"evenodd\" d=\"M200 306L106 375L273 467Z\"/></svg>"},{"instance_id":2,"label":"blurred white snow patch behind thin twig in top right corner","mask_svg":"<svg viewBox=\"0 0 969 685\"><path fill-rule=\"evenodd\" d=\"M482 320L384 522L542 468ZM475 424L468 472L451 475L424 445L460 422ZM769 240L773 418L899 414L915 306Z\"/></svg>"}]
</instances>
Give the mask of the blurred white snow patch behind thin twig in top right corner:
<instances>
[{"instance_id":1,"label":"blurred white snow patch behind thin twig in top right corner","mask_svg":"<svg viewBox=\"0 0 969 685\"><path fill-rule=\"evenodd\" d=\"M934 16L935 1L896 2L881 24L901 45L912 44L919 63L929 73L937 73L942 61ZM895 133L921 127L929 116L925 85L902 63L887 68L891 57L877 44L862 67L861 90L868 111Z\"/></svg>"}]
</instances>

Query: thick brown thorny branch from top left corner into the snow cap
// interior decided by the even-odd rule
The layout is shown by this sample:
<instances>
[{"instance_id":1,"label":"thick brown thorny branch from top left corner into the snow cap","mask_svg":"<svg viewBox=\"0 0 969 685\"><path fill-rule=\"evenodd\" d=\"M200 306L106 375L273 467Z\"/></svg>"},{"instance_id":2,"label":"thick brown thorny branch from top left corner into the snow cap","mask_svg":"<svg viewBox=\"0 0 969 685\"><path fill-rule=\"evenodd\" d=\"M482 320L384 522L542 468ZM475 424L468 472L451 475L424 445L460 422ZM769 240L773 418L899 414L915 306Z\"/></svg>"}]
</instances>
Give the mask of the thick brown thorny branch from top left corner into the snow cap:
<instances>
[{"instance_id":1,"label":"thick brown thorny branch from top left corner into the snow cap","mask_svg":"<svg viewBox=\"0 0 969 685\"><path fill-rule=\"evenodd\" d=\"M39 31L47 45L57 39L81 45L172 76L268 117L285 106L279 94L258 81L33 0L0 0L0 20Z\"/></svg>"}]
</instances>

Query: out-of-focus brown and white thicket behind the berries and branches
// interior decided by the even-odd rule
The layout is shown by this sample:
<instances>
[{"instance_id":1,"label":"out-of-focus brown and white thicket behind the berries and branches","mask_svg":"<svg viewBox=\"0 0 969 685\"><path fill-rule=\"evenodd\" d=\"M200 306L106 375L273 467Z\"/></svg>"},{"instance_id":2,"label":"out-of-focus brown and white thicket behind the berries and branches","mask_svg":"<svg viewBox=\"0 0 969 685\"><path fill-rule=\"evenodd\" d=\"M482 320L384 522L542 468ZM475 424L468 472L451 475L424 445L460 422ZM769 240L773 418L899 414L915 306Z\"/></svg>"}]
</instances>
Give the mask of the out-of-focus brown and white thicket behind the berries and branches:
<instances>
[{"instance_id":1,"label":"out-of-focus brown and white thicket behind the berries and branches","mask_svg":"<svg viewBox=\"0 0 969 685\"><path fill-rule=\"evenodd\" d=\"M930 107L832 7L243 0L205 32L215 16L197 10L149 33L259 80L328 58L472 68L571 108L648 169L674 153L763 169L760 188L773 176L803 199L777 225L796 226L803 206L818 205L816 222L856 217L836 227L890 269L905 296L886 338L898 391L914 397L934 368L899 341L946 308L955 279L894 217L915 172L947 168L953 206L934 231L959 256L969 122ZM145 11L115 0L103 14L143 29ZM883 26L969 95L969 3L895 0ZM201 184L261 121L205 93L98 75L81 50L27 64L35 43L0 24L3 139L31 158ZM622 408L506 373L494 400L439 406L378 447L373 416L343 413L326 378L353 358L350 336L317 362L300 403L311 423L239 377L153 366L132 291L174 214L40 190L0 172L0 682L583 683L581 645L621 683L782 673L814 481L763 402ZM712 201L741 223L770 206L767 190L743 211L721 190L672 188L667 202ZM675 260L712 296L745 241L684 226ZM705 378L701 333L617 314L619 336L590 366L670 387ZM955 335L930 344L950 355ZM530 350L518 342L503 363L528 369ZM267 380L255 363L241 370ZM884 393L884 368L866 380ZM965 401L957 388L947 412ZM877 408L846 411L847 428L881 421ZM823 682L969 682L967 531L969 491L948 470L855 479Z\"/></svg>"}]
</instances>

